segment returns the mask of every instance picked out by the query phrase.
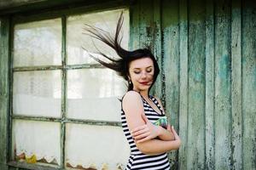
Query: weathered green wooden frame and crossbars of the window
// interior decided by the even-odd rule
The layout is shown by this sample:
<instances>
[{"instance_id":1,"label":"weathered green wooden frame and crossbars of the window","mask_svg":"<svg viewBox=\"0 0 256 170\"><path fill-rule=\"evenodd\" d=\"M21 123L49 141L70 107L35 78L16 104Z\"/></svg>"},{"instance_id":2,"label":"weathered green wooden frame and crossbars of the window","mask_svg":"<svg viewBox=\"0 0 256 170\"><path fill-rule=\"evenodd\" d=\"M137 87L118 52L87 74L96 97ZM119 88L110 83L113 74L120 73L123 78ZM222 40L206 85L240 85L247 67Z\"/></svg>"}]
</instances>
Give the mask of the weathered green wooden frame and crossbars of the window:
<instances>
[{"instance_id":1,"label":"weathered green wooden frame and crossbars of the window","mask_svg":"<svg viewBox=\"0 0 256 170\"><path fill-rule=\"evenodd\" d=\"M115 126L121 127L121 122L108 122L108 121L93 121L67 118L67 71L77 69L93 69L104 68L99 64L81 64L81 65L67 65L67 17L75 14L90 14L94 12L108 11L113 9L127 9L131 15L131 9L129 3L104 3L96 4L92 6L84 6L79 8L67 8L55 11L46 11L40 14L15 14L9 23L9 113L8 113L8 150L7 161L9 167L20 167L26 169L65 169L65 140L66 140L66 124L67 123L79 123L96 126ZM14 31L16 24L22 24L32 21L51 20L61 18L61 65L40 65L40 66L13 66L14 60ZM129 24L130 25L130 24ZM131 37L131 31L130 35ZM130 45L130 42L128 42ZM13 114L13 82L14 73L19 71L61 71L61 117L46 117L46 116L20 116ZM26 121L40 121L40 122L60 122L61 123L61 165L53 166L38 164L29 164L26 162L19 162L12 160L12 124L13 120L26 120Z\"/></svg>"}]
</instances>

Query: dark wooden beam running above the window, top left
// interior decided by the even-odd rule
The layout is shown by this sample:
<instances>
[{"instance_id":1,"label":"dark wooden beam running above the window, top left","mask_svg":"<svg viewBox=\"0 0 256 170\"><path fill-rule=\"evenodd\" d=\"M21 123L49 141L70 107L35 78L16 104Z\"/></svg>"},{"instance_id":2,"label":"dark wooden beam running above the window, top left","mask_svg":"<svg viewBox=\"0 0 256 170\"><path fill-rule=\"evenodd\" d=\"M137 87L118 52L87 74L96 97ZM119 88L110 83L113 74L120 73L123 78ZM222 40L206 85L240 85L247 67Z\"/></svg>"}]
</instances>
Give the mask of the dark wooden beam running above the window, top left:
<instances>
[{"instance_id":1,"label":"dark wooden beam running above the window, top left","mask_svg":"<svg viewBox=\"0 0 256 170\"><path fill-rule=\"evenodd\" d=\"M21 1L15 1L15 3L18 3L18 2L21 2ZM0 15L24 13L20 19L22 20L23 18L24 20L26 20L26 17L28 15L38 15L40 13L51 15L52 17L60 16L62 14L67 14L67 13L68 14L84 14L89 11L91 12L92 10L95 11L99 9L102 10L104 8L106 9L106 7L107 8L120 8L125 6L127 7L129 3L130 1L122 1L122 0L113 0L113 1L40 0L37 3L24 4L23 6L2 8L0 9ZM58 10L55 10L56 8L58 8ZM73 8L73 10L70 10L71 8Z\"/></svg>"}]
</instances>

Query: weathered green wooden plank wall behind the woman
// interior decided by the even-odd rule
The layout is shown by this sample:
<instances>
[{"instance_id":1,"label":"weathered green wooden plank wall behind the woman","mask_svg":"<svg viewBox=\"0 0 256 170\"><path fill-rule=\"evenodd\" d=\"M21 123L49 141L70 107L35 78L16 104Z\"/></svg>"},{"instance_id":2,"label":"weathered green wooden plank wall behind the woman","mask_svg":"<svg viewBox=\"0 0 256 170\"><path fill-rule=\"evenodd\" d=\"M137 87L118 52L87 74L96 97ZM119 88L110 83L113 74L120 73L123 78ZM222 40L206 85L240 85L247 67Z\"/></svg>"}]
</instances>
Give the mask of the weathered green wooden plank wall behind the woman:
<instances>
[{"instance_id":1,"label":"weathered green wooden plank wall behind the woman","mask_svg":"<svg viewBox=\"0 0 256 170\"><path fill-rule=\"evenodd\" d=\"M7 13L6 13L7 14ZM0 169L8 160L9 16L0 34ZM160 63L153 93L183 144L172 169L256 169L256 3L131 2L131 48Z\"/></svg>"}]
</instances>

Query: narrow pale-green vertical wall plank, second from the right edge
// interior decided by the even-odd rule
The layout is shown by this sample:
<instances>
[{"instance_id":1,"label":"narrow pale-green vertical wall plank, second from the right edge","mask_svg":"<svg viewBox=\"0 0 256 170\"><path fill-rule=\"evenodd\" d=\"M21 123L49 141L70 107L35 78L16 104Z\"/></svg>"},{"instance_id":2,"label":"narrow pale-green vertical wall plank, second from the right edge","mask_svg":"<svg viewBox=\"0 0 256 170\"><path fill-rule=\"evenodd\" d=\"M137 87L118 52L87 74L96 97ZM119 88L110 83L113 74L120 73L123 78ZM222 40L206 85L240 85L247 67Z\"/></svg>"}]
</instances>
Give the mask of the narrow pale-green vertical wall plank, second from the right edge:
<instances>
[{"instance_id":1,"label":"narrow pale-green vertical wall plank, second from the right edge","mask_svg":"<svg viewBox=\"0 0 256 170\"><path fill-rule=\"evenodd\" d=\"M232 167L242 168L241 157L241 0L232 1L231 69L232 69Z\"/></svg>"}]
</instances>

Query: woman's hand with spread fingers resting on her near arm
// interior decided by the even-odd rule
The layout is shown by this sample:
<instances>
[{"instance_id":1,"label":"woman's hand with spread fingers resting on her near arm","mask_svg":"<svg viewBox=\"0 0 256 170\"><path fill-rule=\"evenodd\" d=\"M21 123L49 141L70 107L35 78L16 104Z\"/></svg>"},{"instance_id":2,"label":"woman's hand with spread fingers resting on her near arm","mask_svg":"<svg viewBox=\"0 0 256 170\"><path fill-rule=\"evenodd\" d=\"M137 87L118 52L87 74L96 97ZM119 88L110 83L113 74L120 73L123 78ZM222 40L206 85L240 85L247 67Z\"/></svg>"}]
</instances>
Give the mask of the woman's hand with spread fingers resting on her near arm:
<instances>
[{"instance_id":1,"label":"woman's hand with spread fingers resting on her near arm","mask_svg":"<svg viewBox=\"0 0 256 170\"><path fill-rule=\"evenodd\" d=\"M136 127L131 131L131 136L137 143L154 139L160 134L160 127L148 121L148 118L143 114L143 121L146 123L143 126Z\"/></svg>"}]
</instances>

